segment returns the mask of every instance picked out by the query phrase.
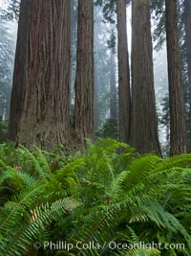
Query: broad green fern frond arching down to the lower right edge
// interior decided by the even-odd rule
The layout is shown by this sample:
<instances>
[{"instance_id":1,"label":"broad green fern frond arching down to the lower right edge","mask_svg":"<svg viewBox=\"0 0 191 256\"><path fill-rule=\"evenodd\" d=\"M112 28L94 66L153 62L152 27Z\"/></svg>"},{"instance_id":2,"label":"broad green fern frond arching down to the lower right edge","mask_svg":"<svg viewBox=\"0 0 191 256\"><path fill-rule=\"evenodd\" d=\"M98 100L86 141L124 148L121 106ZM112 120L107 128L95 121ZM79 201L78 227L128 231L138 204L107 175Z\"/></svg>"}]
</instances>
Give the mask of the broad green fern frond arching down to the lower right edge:
<instances>
[{"instance_id":1,"label":"broad green fern frond arching down to the lower right edge","mask_svg":"<svg viewBox=\"0 0 191 256\"><path fill-rule=\"evenodd\" d=\"M124 224L124 222L129 224L135 222L137 225L142 222L152 222L159 229L165 228L175 233L180 232L187 244L191 244L190 236L180 224L180 221L172 214L164 211L158 202L146 196L122 200L108 207L107 210L90 213L86 217L80 233L74 236L74 241L82 241L84 244L88 243L88 241L95 241L97 244L112 241L117 235L117 227L121 223ZM89 253L89 250L83 252L84 255ZM91 253L94 253L94 251ZM99 253L101 252L99 251Z\"/></svg>"}]
</instances>

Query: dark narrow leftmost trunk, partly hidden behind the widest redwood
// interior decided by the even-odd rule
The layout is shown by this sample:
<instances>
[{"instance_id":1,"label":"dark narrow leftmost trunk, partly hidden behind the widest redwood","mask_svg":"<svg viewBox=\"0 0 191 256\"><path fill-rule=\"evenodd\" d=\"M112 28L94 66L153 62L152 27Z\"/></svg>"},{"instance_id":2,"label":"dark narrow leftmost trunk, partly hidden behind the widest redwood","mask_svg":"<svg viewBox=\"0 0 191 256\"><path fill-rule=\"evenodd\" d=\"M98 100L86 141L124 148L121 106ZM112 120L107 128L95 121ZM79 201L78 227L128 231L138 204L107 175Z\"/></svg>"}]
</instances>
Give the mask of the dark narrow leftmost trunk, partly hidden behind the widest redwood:
<instances>
[{"instance_id":1,"label":"dark narrow leftmost trunk, partly hidden behind the widest redwood","mask_svg":"<svg viewBox=\"0 0 191 256\"><path fill-rule=\"evenodd\" d=\"M22 0L20 4L8 132L8 138L12 141L16 140L19 130L19 124L23 111L25 89L28 80L30 5L31 0Z\"/></svg>"}]
</instances>

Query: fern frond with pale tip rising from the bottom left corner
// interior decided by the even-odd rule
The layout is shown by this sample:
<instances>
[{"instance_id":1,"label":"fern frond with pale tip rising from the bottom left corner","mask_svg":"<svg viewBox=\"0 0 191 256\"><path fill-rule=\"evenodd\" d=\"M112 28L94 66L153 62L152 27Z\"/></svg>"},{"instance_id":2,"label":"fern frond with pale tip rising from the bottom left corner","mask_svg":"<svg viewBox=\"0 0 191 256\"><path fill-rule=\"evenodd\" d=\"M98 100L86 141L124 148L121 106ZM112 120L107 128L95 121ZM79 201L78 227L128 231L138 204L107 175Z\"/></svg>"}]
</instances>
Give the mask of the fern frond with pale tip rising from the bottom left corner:
<instances>
[{"instance_id":1,"label":"fern frond with pale tip rising from the bottom left corner","mask_svg":"<svg viewBox=\"0 0 191 256\"><path fill-rule=\"evenodd\" d=\"M10 234L9 242L2 244L1 255L13 256L22 255L27 252L32 242L35 242L37 235L42 232L52 221L58 220L66 214L71 213L80 204L73 198L63 198L33 209L32 218L28 223L16 228L16 232Z\"/></svg>"}]
</instances>

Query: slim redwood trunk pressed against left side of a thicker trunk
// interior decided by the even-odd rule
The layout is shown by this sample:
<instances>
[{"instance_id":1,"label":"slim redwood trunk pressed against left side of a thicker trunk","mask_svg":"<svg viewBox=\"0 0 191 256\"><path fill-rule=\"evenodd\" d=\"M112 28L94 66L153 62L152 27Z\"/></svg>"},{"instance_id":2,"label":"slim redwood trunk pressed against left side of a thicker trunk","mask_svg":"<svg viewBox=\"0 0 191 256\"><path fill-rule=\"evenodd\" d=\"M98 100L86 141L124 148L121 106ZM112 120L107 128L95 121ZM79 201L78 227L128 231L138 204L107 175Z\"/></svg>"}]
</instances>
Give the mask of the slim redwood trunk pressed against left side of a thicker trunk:
<instances>
[{"instance_id":1,"label":"slim redwood trunk pressed against left side of a thicker trunk","mask_svg":"<svg viewBox=\"0 0 191 256\"><path fill-rule=\"evenodd\" d=\"M126 1L117 1L118 35L118 112L120 141L129 142L130 135L130 72L127 45Z\"/></svg>"}]
</instances>

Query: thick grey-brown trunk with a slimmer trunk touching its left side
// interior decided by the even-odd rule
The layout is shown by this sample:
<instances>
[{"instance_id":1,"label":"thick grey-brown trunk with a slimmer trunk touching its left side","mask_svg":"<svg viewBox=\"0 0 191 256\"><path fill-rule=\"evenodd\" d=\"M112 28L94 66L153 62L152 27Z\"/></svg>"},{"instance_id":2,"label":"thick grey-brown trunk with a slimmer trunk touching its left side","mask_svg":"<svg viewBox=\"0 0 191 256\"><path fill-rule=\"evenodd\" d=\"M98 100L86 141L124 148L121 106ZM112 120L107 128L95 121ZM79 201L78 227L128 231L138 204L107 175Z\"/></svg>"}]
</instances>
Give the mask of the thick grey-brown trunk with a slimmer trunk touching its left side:
<instances>
[{"instance_id":1,"label":"thick grey-brown trunk with a slimmer trunk touching its left side","mask_svg":"<svg viewBox=\"0 0 191 256\"><path fill-rule=\"evenodd\" d=\"M160 154L153 74L149 0L132 3L131 146L138 152Z\"/></svg>"}]
</instances>

